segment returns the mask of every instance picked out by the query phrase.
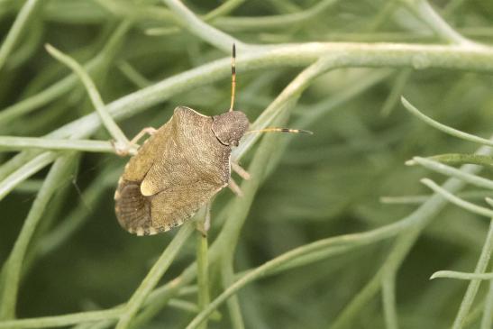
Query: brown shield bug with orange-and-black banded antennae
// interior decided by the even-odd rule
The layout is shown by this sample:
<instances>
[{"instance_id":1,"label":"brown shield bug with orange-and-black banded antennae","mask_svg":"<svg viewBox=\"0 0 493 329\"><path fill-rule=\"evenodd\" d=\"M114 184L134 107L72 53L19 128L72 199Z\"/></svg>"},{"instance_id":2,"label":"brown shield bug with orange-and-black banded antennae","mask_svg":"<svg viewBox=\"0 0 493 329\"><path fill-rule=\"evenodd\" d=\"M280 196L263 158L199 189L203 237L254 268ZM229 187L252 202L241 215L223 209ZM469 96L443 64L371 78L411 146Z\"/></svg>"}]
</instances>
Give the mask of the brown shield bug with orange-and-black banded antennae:
<instances>
[{"instance_id":1,"label":"brown shield bug with orange-and-black banded antennae","mask_svg":"<svg viewBox=\"0 0 493 329\"><path fill-rule=\"evenodd\" d=\"M231 170L242 178L248 179L249 175L231 160L231 152L250 123L245 114L233 110L234 63L233 44L229 111L206 116L178 106L160 129L146 128L132 140L151 134L125 166L114 193L118 223L128 232L151 235L169 231L183 224L226 186L241 196ZM286 128L255 131L261 132L310 133Z\"/></svg>"}]
</instances>

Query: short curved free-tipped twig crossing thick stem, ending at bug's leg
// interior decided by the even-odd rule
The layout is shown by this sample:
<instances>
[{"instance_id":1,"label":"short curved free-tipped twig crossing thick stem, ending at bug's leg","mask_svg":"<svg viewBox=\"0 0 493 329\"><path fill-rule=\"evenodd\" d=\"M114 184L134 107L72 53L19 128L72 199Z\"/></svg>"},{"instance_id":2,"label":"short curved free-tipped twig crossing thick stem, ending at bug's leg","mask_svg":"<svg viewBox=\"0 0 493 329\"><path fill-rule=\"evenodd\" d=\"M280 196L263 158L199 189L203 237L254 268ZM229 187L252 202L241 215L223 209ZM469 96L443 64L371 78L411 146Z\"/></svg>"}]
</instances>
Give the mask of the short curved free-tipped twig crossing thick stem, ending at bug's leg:
<instances>
[{"instance_id":1,"label":"short curved free-tipped twig crossing thick stem, ending at bug's leg","mask_svg":"<svg viewBox=\"0 0 493 329\"><path fill-rule=\"evenodd\" d=\"M72 59L67 54L64 54L63 52L57 50L50 44L46 45L46 50L50 52L51 56L53 56L55 59L58 59L63 64L67 65L68 68L72 69L78 75L78 78L80 78L80 80L84 84L84 87L86 87L87 94L89 95L91 102L96 108L96 112L97 114L99 114L99 117L105 125L105 128L116 141L116 148L121 150L129 149L131 147L130 141L127 139L120 127L114 122L113 117L107 113L105 103L99 95L96 85L86 73L84 68L80 64L78 64L77 60Z\"/></svg>"}]
</instances>

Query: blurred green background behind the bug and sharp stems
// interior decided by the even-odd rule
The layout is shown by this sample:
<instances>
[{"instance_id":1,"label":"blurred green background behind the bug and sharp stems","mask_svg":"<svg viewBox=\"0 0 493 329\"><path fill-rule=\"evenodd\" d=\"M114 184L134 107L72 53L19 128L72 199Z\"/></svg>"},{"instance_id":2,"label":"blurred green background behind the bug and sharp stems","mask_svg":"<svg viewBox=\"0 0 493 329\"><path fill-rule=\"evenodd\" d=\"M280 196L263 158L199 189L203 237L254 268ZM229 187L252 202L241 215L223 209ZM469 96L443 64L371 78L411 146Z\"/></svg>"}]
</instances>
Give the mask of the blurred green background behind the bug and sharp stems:
<instances>
[{"instance_id":1,"label":"blurred green background behind the bug and sharp stems","mask_svg":"<svg viewBox=\"0 0 493 329\"><path fill-rule=\"evenodd\" d=\"M145 10L152 6L166 8L159 1L41 3L0 70L0 108L37 95L69 74L66 67L48 55L44 43L86 63L104 49L122 19L131 15L134 23L121 46L111 54L111 59L91 71L105 103L228 56L185 30L173 30L173 23L161 23L158 11ZM209 13L221 4L186 2L196 14ZM246 1L232 14L211 22L235 38L252 43L442 42L404 5L392 1L333 2L319 13L288 25L235 25L228 21L236 16L304 13L317 4L312 0ZM0 39L11 28L22 5L22 1L0 1ZM463 35L486 43L491 40L493 3L452 0L434 1L432 5ZM168 31L163 31L163 27ZM160 35L149 35L156 31ZM237 57L241 61L242 53ZM253 122L300 70L239 69L237 108ZM337 69L317 78L300 98L288 125L297 128L297 120L314 107L325 106L330 111L316 123L302 127L313 131L313 136L279 137L291 142L255 196L235 253L235 271L259 266L308 242L367 231L411 214L418 204L388 204L380 198L429 195L429 189L419 179L429 177L443 182L444 178L427 169L407 167L405 161L414 156L471 153L477 146L419 121L404 110L398 96L406 96L441 123L487 137L493 119L492 84L493 78L487 74L385 67ZM339 105L331 105L331 100L356 90L357 86L361 89L354 95ZM168 121L177 105L187 105L203 114L219 114L228 108L229 96L230 80L225 78L173 95L168 101L121 122L121 127L128 136L142 127L159 127ZM84 87L78 85L48 105L2 123L0 135L42 136L93 111ZM101 129L94 138L109 140L110 136ZM3 152L0 160L5 162L14 154ZM242 163L248 165L250 158L247 156ZM173 232L137 238L119 227L113 195L125 162L126 159L112 154L83 153L77 172L59 182L59 191L43 215L24 262L18 317L105 309L125 302L175 235ZM0 263L12 250L47 170L42 169L0 202ZM484 171L482 176L490 178L491 173ZM479 191L479 195L489 194ZM222 224L215 222L215 216L233 197L231 191L224 190L215 199L211 242ZM473 201L483 203L480 197ZM52 233L74 216L79 221L77 227L56 244L56 235ZM467 282L430 281L429 277L436 270L472 271L487 231L487 221L456 206L447 206L434 218L398 270L400 327L447 328L452 324ZM56 248L51 248L51 243ZM239 293L245 326L331 327L379 270L391 247L391 239L373 243L250 284ZM195 260L195 248L194 239L187 242L162 282L175 278ZM219 276L217 271L210 273L213 297L221 291ZM487 285L481 286L479 299L486 291ZM192 302L196 299L195 295L183 298ZM222 320L210 322L209 326L230 327L227 308L221 306L219 310ZM192 317L167 307L145 327L180 328ZM477 319L472 318L470 328L478 327L474 326ZM348 324L351 328L383 326L379 294L365 303Z\"/></svg>"}]
</instances>

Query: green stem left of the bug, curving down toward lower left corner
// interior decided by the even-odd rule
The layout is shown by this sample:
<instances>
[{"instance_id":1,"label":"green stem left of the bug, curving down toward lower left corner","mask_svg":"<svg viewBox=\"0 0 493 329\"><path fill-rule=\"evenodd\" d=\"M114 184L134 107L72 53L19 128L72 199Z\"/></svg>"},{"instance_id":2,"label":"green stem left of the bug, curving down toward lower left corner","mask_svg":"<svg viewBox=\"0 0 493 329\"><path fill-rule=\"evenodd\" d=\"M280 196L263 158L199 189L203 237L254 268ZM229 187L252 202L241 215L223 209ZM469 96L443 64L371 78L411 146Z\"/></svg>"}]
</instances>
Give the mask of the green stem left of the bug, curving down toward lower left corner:
<instances>
[{"instance_id":1,"label":"green stem left of the bug, curving down toward lower left corner","mask_svg":"<svg viewBox=\"0 0 493 329\"><path fill-rule=\"evenodd\" d=\"M21 279L24 256L36 227L50 202L51 196L59 188L59 181L65 179L68 172L74 167L74 157L67 155L55 161L48 177L45 179L38 196L32 204L31 210L23 224L21 233L14 243L14 248L5 262L5 287L0 297L0 319L11 319L15 315L17 293Z\"/></svg>"}]
</instances>

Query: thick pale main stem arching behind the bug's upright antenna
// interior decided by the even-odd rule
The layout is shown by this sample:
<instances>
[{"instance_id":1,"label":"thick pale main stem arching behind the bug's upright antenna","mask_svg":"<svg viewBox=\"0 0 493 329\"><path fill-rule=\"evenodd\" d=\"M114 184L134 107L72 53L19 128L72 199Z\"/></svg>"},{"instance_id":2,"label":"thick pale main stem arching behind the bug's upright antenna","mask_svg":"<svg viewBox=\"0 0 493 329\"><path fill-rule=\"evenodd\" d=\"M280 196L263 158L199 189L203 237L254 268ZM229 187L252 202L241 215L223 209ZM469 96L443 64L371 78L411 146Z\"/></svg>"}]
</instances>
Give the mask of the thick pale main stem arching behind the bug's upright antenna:
<instances>
[{"instance_id":1,"label":"thick pale main stem arching behind the bug's upright antenna","mask_svg":"<svg viewBox=\"0 0 493 329\"><path fill-rule=\"evenodd\" d=\"M358 44L358 43L306 43L282 45L270 50L247 53L237 61L237 68L275 68L281 66L304 66L329 54L335 56L334 68L342 67L413 67L413 59L420 56L428 61L428 68L468 69L493 72L493 50L469 50L458 46L429 46L412 44ZM216 60L196 69L180 73L159 83L138 90L107 105L116 120L128 118L142 110L167 100L175 93L210 84L230 74L230 58ZM95 114L88 114L60 127L52 137L68 137L75 128L82 133L93 133L99 127Z\"/></svg>"}]
</instances>

